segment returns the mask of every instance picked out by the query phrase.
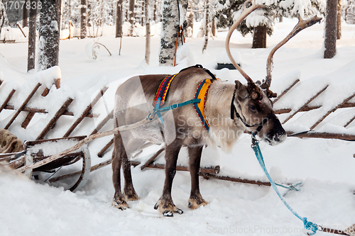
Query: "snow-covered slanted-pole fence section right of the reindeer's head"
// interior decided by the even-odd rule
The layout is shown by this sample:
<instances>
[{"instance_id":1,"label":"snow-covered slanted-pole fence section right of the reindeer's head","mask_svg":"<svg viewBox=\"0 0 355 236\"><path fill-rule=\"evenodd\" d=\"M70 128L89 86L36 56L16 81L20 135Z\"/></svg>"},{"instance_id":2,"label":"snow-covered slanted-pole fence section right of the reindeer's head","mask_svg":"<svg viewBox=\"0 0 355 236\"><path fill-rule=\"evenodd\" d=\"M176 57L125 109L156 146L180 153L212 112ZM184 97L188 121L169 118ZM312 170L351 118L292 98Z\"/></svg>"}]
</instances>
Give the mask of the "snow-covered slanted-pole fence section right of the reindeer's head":
<instances>
[{"instance_id":1,"label":"snow-covered slanted-pole fence section right of the reindeer's head","mask_svg":"<svg viewBox=\"0 0 355 236\"><path fill-rule=\"evenodd\" d=\"M355 83L291 73L273 82L274 109L289 136L355 140Z\"/></svg>"}]
</instances>

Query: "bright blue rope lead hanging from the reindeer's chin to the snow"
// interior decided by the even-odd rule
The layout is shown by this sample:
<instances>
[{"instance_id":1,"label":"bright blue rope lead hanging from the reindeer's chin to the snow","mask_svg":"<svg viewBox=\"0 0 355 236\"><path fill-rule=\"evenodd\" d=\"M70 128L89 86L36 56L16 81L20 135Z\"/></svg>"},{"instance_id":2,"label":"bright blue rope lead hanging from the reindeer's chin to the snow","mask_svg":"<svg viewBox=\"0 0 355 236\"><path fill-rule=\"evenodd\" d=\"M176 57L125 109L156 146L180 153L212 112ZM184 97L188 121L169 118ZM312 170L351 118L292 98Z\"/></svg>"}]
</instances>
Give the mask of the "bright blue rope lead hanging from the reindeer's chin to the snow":
<instances>
[{"instance_id":1,"label":"bright blue rope lead hanging from the reindeer's chin to the snow","mask_svg":"<svg viewBox=\"0 0 355 236\"><path fill-rule=\"evenodd\" d=\"M271 179L270 174L268 174L268 170L265 167L265 163L263 160L263 154L261 154L261 150L258 144L258 140L256 140L256 137L253 133L251 133L251 148L253 148L256 158L258 159L258 162L261 166L261 168L263 169L263 172L266 174L266 176L268 177L268 181L270 181L271 186L273 186L273 189L275 190L275 192L278 194L278 197L280 198L280 200L283 202L283 204L285 204L285 206L288 208L288 210L290 210L290 212L293 213L293 215L295 215L297 218L299 218L300 220L302 220L303 225L305 225L305 229L306 230L311 230L312 232L308 232L308 235L315 235L315 233L318 230L318 225L307 221L307 218L302 218L300 215L298 215L295 210L293 210L293 208L290 207L290 205L288 205L288 203L286 203L285 198L283 198L283 196L281 195L281 193L278 191L278 188L276 187L275 182L273 181L273 179Z\"/></svg>"}]
</instances>

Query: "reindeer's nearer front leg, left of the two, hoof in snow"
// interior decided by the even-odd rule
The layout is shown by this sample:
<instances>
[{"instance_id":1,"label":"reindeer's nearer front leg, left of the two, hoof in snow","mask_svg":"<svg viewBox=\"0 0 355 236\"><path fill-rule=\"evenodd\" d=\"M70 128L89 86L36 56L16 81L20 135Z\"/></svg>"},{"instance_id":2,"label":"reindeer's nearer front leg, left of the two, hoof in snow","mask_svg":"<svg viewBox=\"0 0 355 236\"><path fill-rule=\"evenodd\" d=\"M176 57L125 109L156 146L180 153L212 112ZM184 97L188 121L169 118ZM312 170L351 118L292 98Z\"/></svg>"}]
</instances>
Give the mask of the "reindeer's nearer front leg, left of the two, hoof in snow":
<instances>
[{"instance_id":1,"label":"reindeer's nearer front leg, left of the two, hoof in snow","mask_svg":"<svg viewBox=\"0 0 355 236\"><path fill-rule=\"evenodd\" d=\"M181 144L178 139L165 147L165 183L163 195L154 206L155 210L159 210L165 216L173 216L173 213L183 213L181 209L175 206L173 198L171 198L171 188L176 174L176 162L178 161L180 148Z\"/></svg>"}]
</instances>

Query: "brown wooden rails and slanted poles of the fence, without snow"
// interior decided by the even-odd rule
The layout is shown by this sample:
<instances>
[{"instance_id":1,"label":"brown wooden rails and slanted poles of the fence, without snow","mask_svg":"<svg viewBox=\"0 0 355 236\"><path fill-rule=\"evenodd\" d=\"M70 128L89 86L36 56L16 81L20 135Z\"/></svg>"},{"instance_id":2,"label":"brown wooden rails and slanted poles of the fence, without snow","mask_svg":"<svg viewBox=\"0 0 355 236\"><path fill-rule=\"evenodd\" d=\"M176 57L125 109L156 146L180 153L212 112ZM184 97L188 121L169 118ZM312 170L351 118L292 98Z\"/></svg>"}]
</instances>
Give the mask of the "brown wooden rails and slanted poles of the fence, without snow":
<instances>
[{"instance_id":1,"label":"brown wooden rails and slanted poles of the fence, without snow","mask_svg":"<svg viewBox=\"0 0 355 236\"><path fill-rule=\"evenodd\" d=\"M60 88L60 79L54 79L53 82L54 82L55 86L51 86L51 89L59 89ZM291 82L288 82L288 84L290 84L290 85L284 86L281 91L278 91L280 95L273 101L273 103L276 105L276 104L280 103L280 101L285 99L286 96L292 97L293 96L292 92L295 90L295 88L297 88L297 86L298 87L302 86L302 83L303 82L300 82L300 79L297 79L297 78L293 79L293 81L291 81ZM352 101L352 100L354 100L355 91L353 94L344 97L344 99L342 99L342 101L340 103L338 103L337 106L329 107L329 109L327 111L324 111L324 107L322 105L317 105L317 106L312 105L312 101L315 101L315 99L319 98L322 94L324 94L324 92L326 92L327 89L329 89L329 86L330 86L330 84L323 84L319 88L314 89L313 94L312 93L310 93L309 95L305 94L305 96L309 96L309 97L307 97L307 98L303 97L303 99L307 100L307 101L305 101L305 103L303 103L302 106L298 106L296 108L294 107L294 108L278 108L278 109L276 109L275 113L278 114L279 116L283 116L282 119L280 118L280 120L284 125L289 123L290 120L293 120L295 118L295 116L299 115L300 113L307 113L307 112L315 111L317 109L318 109L318 111L322 111L322 113L320 113L321 114L320 118L310 126L309 130L305 130L305 132L301 132L301 133L297 133L292 130L288 130L287 133L290 137L300 137L300 138L314 137L314 138L329 138L329 139L351 140L351 141L355 140L354 134L327 133L327 132L313 131L315 128L318 127L318 125L323 123L324 120L330 114L334 113L335 111L338 111L341 109L346 109L346 108L348 108L348 109L353 108L354 109L354 107L355 107L355 102ZM2 81L0 81L0 93L3 92L2 91L3 87L4 87L4 83ZM42 88L42 89L40 89L40 88ZM56 123L58 122L58 120L61 116L73 117L72 118L72 125L70 125L70 128L67 128L65 134L62 136L62 137L70 137L70 135L73 133L73 131L75 129L80 128L80 123L82 123L84 118L95 118L95 117L99 116L99 114L94 114L92 110L93 110L94 106L97 104L97 102L100 99L102 99L102 96L104 96L104 94L107 92L108 89L109 88L107 86L104 86L101 90L99 90L97 92L97 94L94 96L94 98L92 99L91 103L89 103L87 108L85 108L84 111L82 111L82 113L80 113L80 116L78 116L78 114L75 114L72 111L70 111L70 109L68 109L68 108L70 108L72 101L74 100L69 97L64 103L61 104L58 111L55 112L55 115L52 118L50 118L48 123L43 127L43 130L40 130L40 134L35 138L35 140L43 140L46 137L46 135L48 135L50 130L55 129ZM13 113L13 116L11 117L9 122L7 122L6 125L4 125L4 127L1 127L1 128L9 129L11 127L11 125L13 125L13 121L16 119L19 119L20 113L23 113L23 112L27 113L26 118L21 120L21 127L23 129L26 129L28 127L28 125L31 123L33 116L36 113L42 113L42 114L49 113L49 111L47 111L45 108L31 107L28 105L28 103L31 101L31 99L35 98L34 95L36 93L40 93L40 90L42 90L42 93L40 94L40 96L42 96L42 97L47 96L48 93L50 92L50 88L45 87L43 89L42 84L40 84L40 83L35 84L35 86L33 86L31 93L27 96L27 98L24 101L21 101L21 106L19 106L18 108L15 108L13 105L11 105L11 99L13 99L13 94L16 93L16 89L12 89L11 91L9 91L9 89L7 89L7 90L8 90L7 94L3 94L3 97L5 97L6 99L4 99L4 101L0 104L0 114L2 112L4 112L4 110L13 110L16 112ZM290 98L288 98L288 99L290 99ZM295 97L294 99L297 99L297 97ZM75 117L75 120L74 120L74 117ZM87 133L86 135L92 135L92 134L98 133L104 127L104 125L106 125L109 122L109 120L111 118L113 118L113 111L112 110L108 111L107 115L104 116L104 118L102 118L102 120L99 123L97 123L94 130L92 130L91 133ZM348 120L346 120L346 122L344 122L343 127L347 128L354 120L355 120L355 116L349 117ZM16 133L15 133L15 135L16 135ZM104 155L104 153L107 152L107 150L109 150L112 143L113 143L113 139L109 140L109 142L107 142L107 144L101 148L101 151L98 153L98 156L102 157ZM160 152L163 152L163 150L159 150L158 154L160 154ZM149 159L146 164L143 164L143 168L146 168L146 167L160 168L160 169L164 168L163 165L153 163L155 157L158 157L158 154L155 154L155 156L152 157L151 159ZM106 162L106 164L110 164L110 163L111 162L109 162L109 161ZM132 164L137 165L139 163L132 162ZM104 165L103 164L98 165L98 167L102 167L102 166L104 166ZM187 170L187 167L179 167L179 168L181 170ZM92 167L92 169L98 169L98 168ZM259 181L249 181L249 180L245 180L245 179L243 180L243 179L229 178L228 176L217 176L216 174L218 172L219 172L219 167L212 167L212 171L208 168L202 170L201 175L204 176L205 178L226 179L226 180L230 180L230 181L241 181L241 182L247 182L247 183L251 183L251 184L270 185L269 183L261 183Z\"/></svg>"}]
</instances>

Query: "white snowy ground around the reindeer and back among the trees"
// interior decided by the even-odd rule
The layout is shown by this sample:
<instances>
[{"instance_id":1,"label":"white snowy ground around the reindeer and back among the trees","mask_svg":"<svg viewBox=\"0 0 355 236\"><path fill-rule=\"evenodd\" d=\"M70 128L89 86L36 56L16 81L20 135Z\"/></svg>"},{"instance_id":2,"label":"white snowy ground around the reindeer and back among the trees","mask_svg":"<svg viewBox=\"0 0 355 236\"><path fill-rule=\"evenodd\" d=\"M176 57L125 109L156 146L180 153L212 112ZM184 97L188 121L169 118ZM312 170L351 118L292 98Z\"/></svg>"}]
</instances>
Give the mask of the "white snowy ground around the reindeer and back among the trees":
<instances>
[{"instance_id":1,"label":"white snowy ground around the reindeer and back among the trees","mask_svg":"<svg viewBox=\"0 0 355 236\"><path fill-rule=\"evenodd\" d=\"M274 35L268 37L266 49L252 50L251 35L243 38L234 33L231 46L241 53L244 70L251 78L265 77L266 58L271 46L284 38L295 23L295 20L288 19L277 23ZM310 86L317 85L313 81L319 79L318 76L332 84L339 79L345 87L346 83L354 86L350 81L354 80L355 73L355 26L343 23L342 39L338 40L337 55L332 60L322 59L323 27L317 25L302 31L275 53L274 82L297 74L301 81L310 79ZM92 39L61 41L62 87L68 86L78 94L94 93L95 88L99 89L103 83L122 81L134 74L173 74L190 64L202 64L221 79L243 82L236 71L214 69L217 54L224 51L225 35L226 32L219 32L217 38L209 39L204 54L203 38L187 38L189 50L183 52L189 52L190 56L177 68L158 67L159 36L156 34L152 38L149 67L143 61L144 38L124 37L119 55L119 39L114 39L113 31L107 29L99 43L106 45L112 56L109 57L102 48L97 60L89 59L85 53L85 47L93 42ZM5 81L13 79L21 84L33 77L35 72L26 73L26 48L26 43L0 44L0 71ZM327 103L338 97L334 95L322 101ZM302 120L302 117L297 120L299 118ZM305 125L297 120L294 120L293 128ZM331 121L337 123L337 120ZM324 126L320 129L327 129ZM353 122L346 130L354 134L354 126ZM16 135L21 136L21 133ZM94 144L89 145L93 164L109 159L111 152L103 159L95 156L99 147ZM354 142L289 137L275 147L261 142L261 150L266 167L275 180L303 182L300 191L286 196L286 201L298 214L313 223L338 230L355 223ZM182 159L186 156L185 150L181 156ZM266 181L250 148L249 135L245 135L231 153L204 150L202 162L219 164L223 175ZM163 189L163 171L132 169L133 184L141 199L129 202L131 208L125 211L111 208L114 195L111 174L111 167L99 169L90 174L82 191L71 193L64 191L62 186L36 184L0 169L0 235L304 235L302 222L283 206L270 187L201 178L202 196L209 205L190 210L187 208L190 175L178 172L173 184L173 200L184 213L163 218L153 209ZM319 232L317 235L327 234Z\"/></svg>"}]
</instances>

